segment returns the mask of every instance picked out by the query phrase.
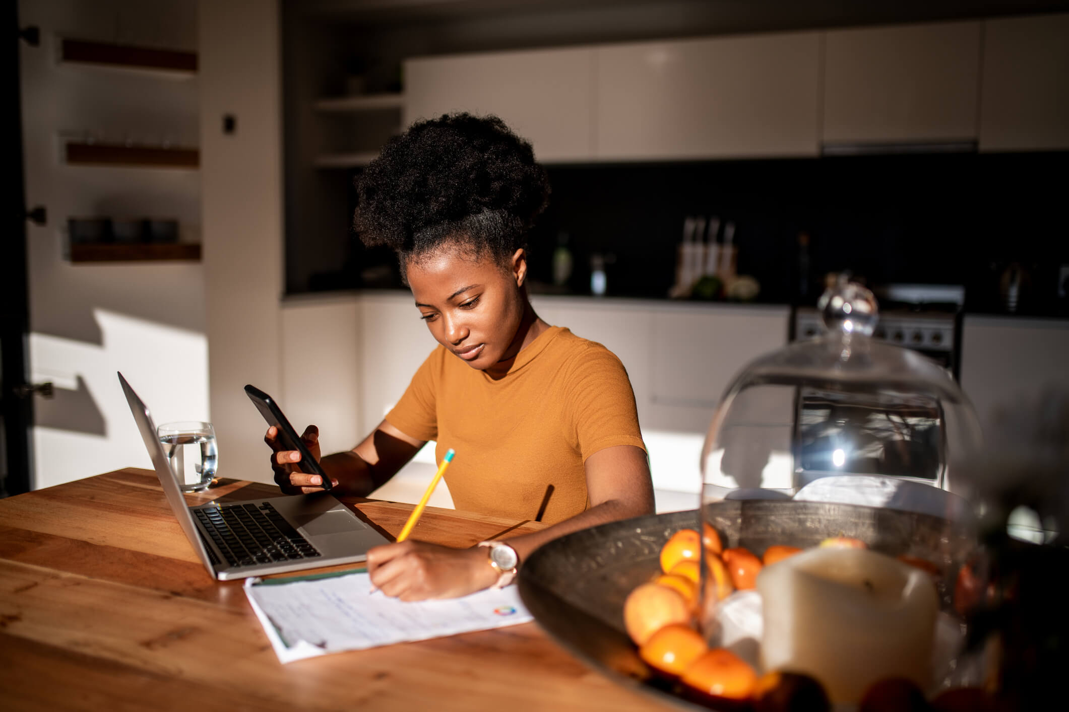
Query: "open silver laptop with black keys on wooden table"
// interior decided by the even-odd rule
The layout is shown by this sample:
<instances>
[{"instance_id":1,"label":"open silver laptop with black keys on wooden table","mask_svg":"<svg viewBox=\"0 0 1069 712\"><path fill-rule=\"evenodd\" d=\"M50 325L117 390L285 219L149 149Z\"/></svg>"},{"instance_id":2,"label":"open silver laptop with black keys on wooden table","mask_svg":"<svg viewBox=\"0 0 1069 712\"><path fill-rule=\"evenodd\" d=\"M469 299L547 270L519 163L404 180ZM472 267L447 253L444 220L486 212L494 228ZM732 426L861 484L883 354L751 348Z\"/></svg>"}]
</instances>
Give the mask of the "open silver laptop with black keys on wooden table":
<instances>
[{"instance_id":1,"label":"open silver laptop with black keys on wooden table","mask_svg":"<svg viewBox=\"0 0 1069 712\"><path fill-rule=\"evenodd\" d=\"M152 414L122 374L126 401L156 476L193 551L216 579L244 579L367 559L387 539L329 493L208 502L189 507L156 438Z\"/></svg>"}]
</instances>

